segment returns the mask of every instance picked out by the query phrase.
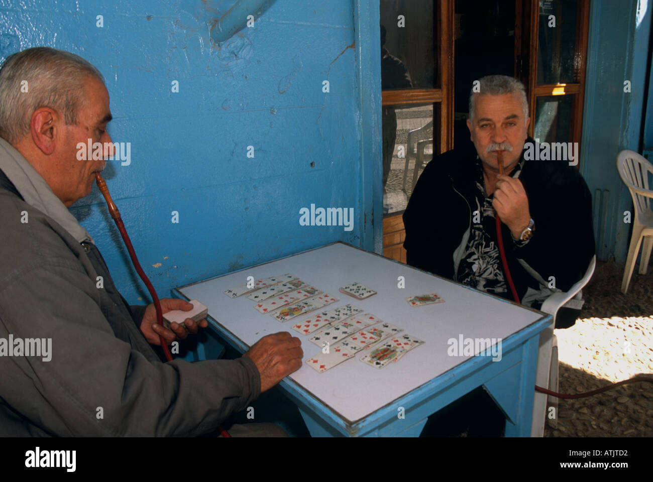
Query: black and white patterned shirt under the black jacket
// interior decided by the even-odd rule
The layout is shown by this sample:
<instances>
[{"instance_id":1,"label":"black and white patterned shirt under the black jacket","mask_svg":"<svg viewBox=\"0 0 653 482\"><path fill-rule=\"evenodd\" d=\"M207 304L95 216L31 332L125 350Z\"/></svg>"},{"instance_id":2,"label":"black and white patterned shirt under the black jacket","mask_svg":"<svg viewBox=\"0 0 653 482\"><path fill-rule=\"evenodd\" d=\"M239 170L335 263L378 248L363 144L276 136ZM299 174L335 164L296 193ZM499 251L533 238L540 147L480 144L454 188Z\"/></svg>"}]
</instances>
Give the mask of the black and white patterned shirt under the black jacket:
<instances>
[{"instance_id":1,"label":"black and white patterned shirt under the black jacket","mask_svg":"<svg viewBox=\"0 0 653 482\"><path fill-rule=\"evenodd\" d=\"M494 208L492 207L494 194L487 195L483 178L483 163L478 155L476 161L476 205L470 206L472 210L470 238L462 259L460 259L460 265L458 265L457 281L480 291L485 291L485 293L509 297L508 285L505 282L501 255L496 240L496 221L494 220ZM518 178L523 166L524 159L522 158L517 163L517 167L515 167L511 176ZM513 238L513 242L518 246L523 246L528 241Z\"/></svg>"}]
</instances>

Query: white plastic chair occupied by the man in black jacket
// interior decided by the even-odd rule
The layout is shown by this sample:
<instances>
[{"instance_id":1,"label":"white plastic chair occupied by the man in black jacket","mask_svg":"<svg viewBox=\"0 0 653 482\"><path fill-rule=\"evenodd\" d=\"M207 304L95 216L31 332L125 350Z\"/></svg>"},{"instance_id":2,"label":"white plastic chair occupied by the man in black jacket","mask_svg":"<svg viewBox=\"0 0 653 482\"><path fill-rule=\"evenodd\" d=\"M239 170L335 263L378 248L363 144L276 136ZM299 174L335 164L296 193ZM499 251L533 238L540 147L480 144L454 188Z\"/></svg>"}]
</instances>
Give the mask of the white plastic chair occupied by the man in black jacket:
<instances>
[{"instance_id":1,"label":"white plastic chair occupied by the man in black jacket","mask_svg":"<svg viewBox=\"0 0 653 482\"><path fill-rule=\"evenodd\" d=\"M539 335L539 349L537 350L537 374L535 385L558 391L558 338L553 334L556 326L556 314L562 306L580 309L582 301L582 287L590 281L596 267L596 255L592 257L590 265L582 277L569 291L553 293L543 302L539 309L541 312L552 315L552 323ZM533 402L533 422L531 425L532 437L544 436L544 425L549 415L549 407L554 408L556 420L558 419L558 398L545 393L535 392Z\"/></svg>"}]
</instances>

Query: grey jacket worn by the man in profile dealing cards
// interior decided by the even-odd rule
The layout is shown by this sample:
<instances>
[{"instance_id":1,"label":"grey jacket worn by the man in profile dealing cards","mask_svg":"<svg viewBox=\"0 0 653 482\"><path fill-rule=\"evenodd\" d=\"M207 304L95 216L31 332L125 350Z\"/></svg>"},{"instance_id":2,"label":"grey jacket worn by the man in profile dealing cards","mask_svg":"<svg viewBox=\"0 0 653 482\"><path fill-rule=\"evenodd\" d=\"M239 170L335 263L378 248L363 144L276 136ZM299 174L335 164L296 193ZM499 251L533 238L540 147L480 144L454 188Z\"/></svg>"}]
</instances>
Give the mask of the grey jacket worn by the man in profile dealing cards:
<instances>
[{"instance_id":1,"label":"grey jacket worn by the man in profile dealing cards","mask_svg":"<svg viewBox=\"0 0 653 482\"><path fill-rule=\"evenodd\" d=\"M259 396L249 358L161 362L145 307L127 305L44 185L0 138L0 436L197 436ZM8 356L30 338L52 339L49 360Z\"/></svg>"}]
</instances>

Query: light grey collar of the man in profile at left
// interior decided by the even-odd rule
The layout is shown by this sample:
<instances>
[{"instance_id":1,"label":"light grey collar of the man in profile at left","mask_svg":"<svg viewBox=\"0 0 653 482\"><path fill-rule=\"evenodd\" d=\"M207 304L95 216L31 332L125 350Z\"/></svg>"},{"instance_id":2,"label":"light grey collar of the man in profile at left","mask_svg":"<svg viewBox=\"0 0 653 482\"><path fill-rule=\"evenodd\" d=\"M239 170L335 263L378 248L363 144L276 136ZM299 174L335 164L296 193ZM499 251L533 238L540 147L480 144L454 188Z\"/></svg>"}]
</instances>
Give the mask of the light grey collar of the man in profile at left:
<instances>
[{"instance_id":1,"label":"light grey collar of the man in profile at left","mask_svg":"<svg viewBox=\"0 0 653 482\"><path fill-rule=\"evenodd\" d=\"M0 169L14 184L25 202L52 217L78 242L93 242L93 238L56 197L48 183L7 140L0 137Z\"/></svg>"}]
</instances>

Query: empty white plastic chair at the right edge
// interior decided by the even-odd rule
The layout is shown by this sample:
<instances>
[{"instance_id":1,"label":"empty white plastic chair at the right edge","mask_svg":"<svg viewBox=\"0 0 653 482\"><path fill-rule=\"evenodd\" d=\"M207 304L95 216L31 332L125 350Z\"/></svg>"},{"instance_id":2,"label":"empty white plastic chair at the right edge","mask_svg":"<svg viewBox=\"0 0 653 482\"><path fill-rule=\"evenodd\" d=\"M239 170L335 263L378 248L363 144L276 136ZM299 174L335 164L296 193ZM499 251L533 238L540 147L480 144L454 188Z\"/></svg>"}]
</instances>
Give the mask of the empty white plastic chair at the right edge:
<instances>
[{"instance_id":1,"label":"empty white plastic chair at the right edge","mask_svg":"<svg viewBox=\"0 0 653 482\"><path fill-rule=\"evenodd\" d=\"M635 219L633 221L633 236L630 238L624 280L621 283L621 292L626 294L633 268L637 261L639 246L642 244L642 259L639 263L639 274L646 274L646 267L653 248L653 211L648 198L653 198L653 191L648 189L648 174L653 174L653 165L645 157L634 151L622 151L616 157L616 169L621 180L628 186L635 206Z\"/></svg>"}]
</instances>

